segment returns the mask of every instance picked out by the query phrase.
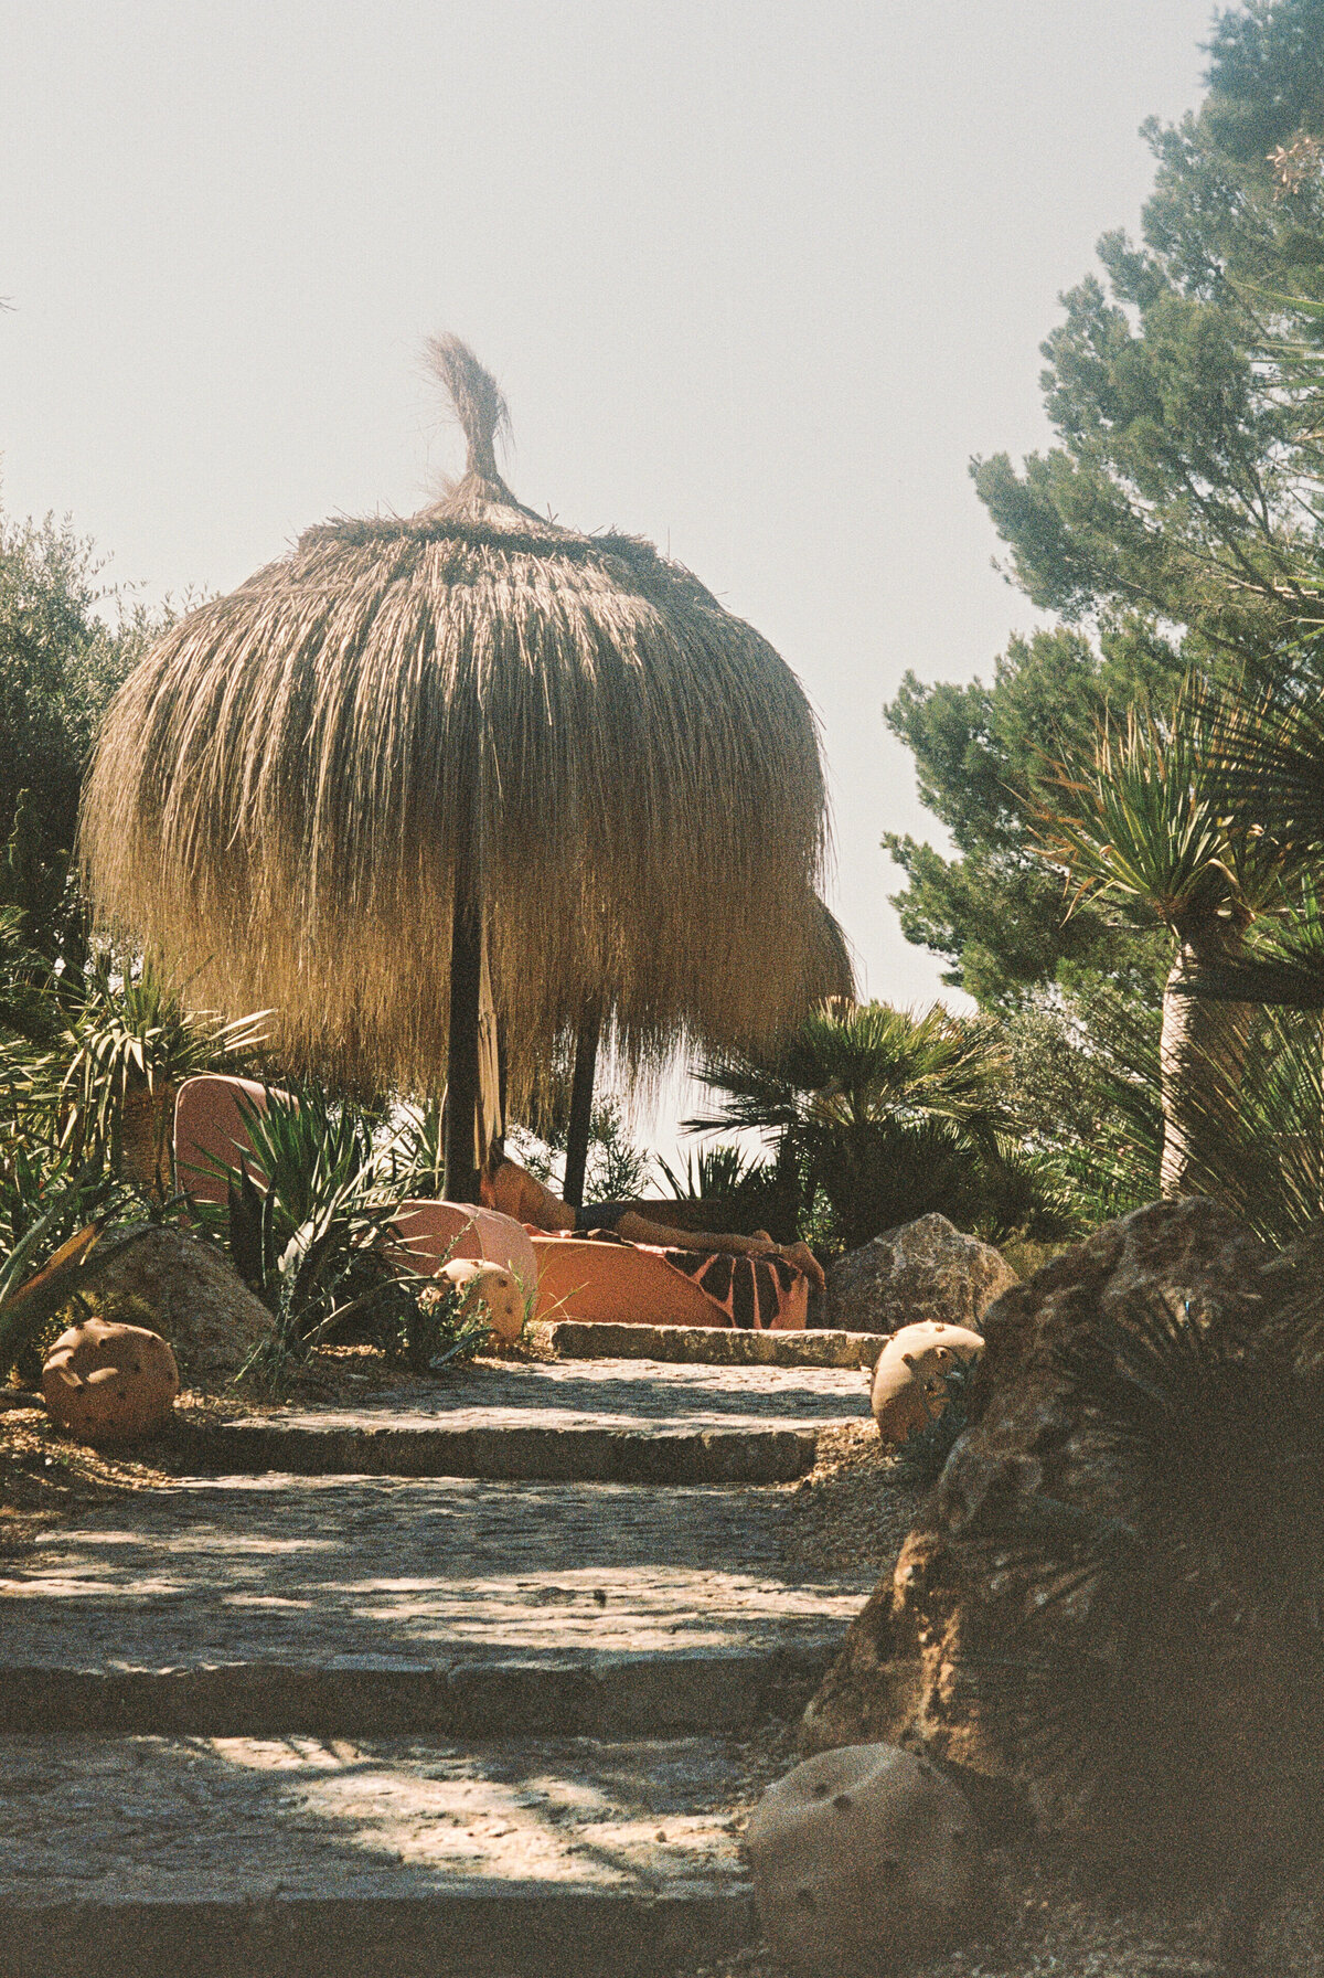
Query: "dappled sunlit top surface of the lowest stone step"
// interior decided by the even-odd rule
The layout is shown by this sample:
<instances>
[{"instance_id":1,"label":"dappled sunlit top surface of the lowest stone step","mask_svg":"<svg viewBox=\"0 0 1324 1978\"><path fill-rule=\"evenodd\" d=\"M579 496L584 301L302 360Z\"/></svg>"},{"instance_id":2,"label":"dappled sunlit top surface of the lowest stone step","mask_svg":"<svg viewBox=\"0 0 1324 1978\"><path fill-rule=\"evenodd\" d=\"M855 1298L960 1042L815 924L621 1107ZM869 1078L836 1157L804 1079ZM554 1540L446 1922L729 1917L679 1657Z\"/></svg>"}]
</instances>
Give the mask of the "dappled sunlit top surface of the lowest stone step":
<instances>
[{"instance_id":1,"label":"dappled sunlit top surface of the lowest stone step","mask_svg":"<svg viewBox=\"0 0 1324 1978\"><path fill-rule=\"evenodd\" d=\"M745 1881L719 1739L456 1747L0 1739L0 1901L482 1893Z\"/></svg>"}]
</instances>

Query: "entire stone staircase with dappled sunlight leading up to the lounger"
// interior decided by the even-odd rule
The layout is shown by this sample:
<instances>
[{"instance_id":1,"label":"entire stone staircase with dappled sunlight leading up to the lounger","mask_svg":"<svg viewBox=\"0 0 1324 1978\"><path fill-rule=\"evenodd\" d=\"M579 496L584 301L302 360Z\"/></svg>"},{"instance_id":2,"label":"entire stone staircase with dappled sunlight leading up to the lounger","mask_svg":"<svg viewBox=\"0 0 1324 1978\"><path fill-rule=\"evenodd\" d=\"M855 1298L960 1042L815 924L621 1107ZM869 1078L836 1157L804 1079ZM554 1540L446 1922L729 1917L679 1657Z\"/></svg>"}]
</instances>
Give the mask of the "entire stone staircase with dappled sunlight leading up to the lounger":
<instances>
[{"instance_id":1,"label":"entire stone staircase with dappled sunlight leading up to the lounger","mask_svg":"<svg viewBox=\"0 0 1324 1978\"><path fill-rule=\"evenodd\" d=\"M871 1578L786 1576L786 1485L875 1343L559 1331L194 1428L188 1474L0 1580L4 1978L621 1978L751 1940L759 1741Z\"/></svg>"}]
</instances>

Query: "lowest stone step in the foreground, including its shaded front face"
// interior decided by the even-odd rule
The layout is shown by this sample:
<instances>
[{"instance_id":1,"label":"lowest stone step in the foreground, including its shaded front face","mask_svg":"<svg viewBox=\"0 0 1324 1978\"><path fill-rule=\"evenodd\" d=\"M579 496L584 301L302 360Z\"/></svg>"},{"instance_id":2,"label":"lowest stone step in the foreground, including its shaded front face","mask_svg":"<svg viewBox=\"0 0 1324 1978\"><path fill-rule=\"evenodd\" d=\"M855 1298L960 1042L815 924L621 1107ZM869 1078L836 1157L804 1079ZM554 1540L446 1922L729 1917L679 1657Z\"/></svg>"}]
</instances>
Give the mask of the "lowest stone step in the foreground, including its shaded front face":
<instances>
[{"instance_id":1,"label":"lowest stone step in the foreground, including its shaded front face","mask_svg":"<svg viewBox=\"0 0 1324 1978\"><path fill-rule=\"evenodd\" d=\"M755 1768L757 1770L757 1768ZM0 1739L6 1978L622 1978L755 1936L729 1741Z\"/></svg>"}]
</instances>

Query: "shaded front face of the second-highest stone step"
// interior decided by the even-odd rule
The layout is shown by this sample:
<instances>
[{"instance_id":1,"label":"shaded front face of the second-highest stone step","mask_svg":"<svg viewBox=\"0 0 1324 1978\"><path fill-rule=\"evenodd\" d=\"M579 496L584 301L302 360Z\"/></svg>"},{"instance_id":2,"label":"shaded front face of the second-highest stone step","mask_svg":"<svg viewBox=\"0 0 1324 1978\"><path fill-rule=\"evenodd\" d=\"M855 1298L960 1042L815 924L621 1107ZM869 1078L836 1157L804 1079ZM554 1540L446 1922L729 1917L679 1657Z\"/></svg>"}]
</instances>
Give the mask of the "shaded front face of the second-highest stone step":
<instances>
[{"instance_id":1,"label":"shaded front face of the second-highest stone step","mask_svg":"<svg viewBox=\"0 0 1324 1978\"><path fill-rule=\"evenodd\" d=\"M492 1478L549 1484L788 1484L814 1468L812 1428L437 1428L421 1422L180 1422L198 1470L255 1476Z\"/></svg>"}]
</instances>

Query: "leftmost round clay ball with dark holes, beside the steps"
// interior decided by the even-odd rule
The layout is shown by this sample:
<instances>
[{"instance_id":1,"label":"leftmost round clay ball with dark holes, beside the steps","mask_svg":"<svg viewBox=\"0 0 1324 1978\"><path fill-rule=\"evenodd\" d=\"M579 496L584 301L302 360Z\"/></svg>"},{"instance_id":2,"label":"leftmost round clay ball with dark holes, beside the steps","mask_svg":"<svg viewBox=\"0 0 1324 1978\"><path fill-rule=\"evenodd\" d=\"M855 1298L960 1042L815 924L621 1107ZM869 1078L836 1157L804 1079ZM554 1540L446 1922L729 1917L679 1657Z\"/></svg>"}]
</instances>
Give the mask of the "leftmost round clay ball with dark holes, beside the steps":
<instances>
[{"instance_id":1,"label":"leftmost round clay ball with dark holes, beside the steps","mask_svg":"<svg viewBox=\"0 0 1324 1978\"><path fill-rule=\"evenodd\" d=\"M178 1393L174 1353L144 1325L85 1319L59 1335L41 1367L45 1406L79 1442L154 1436Z\"/></svg>"}]
</instances>

